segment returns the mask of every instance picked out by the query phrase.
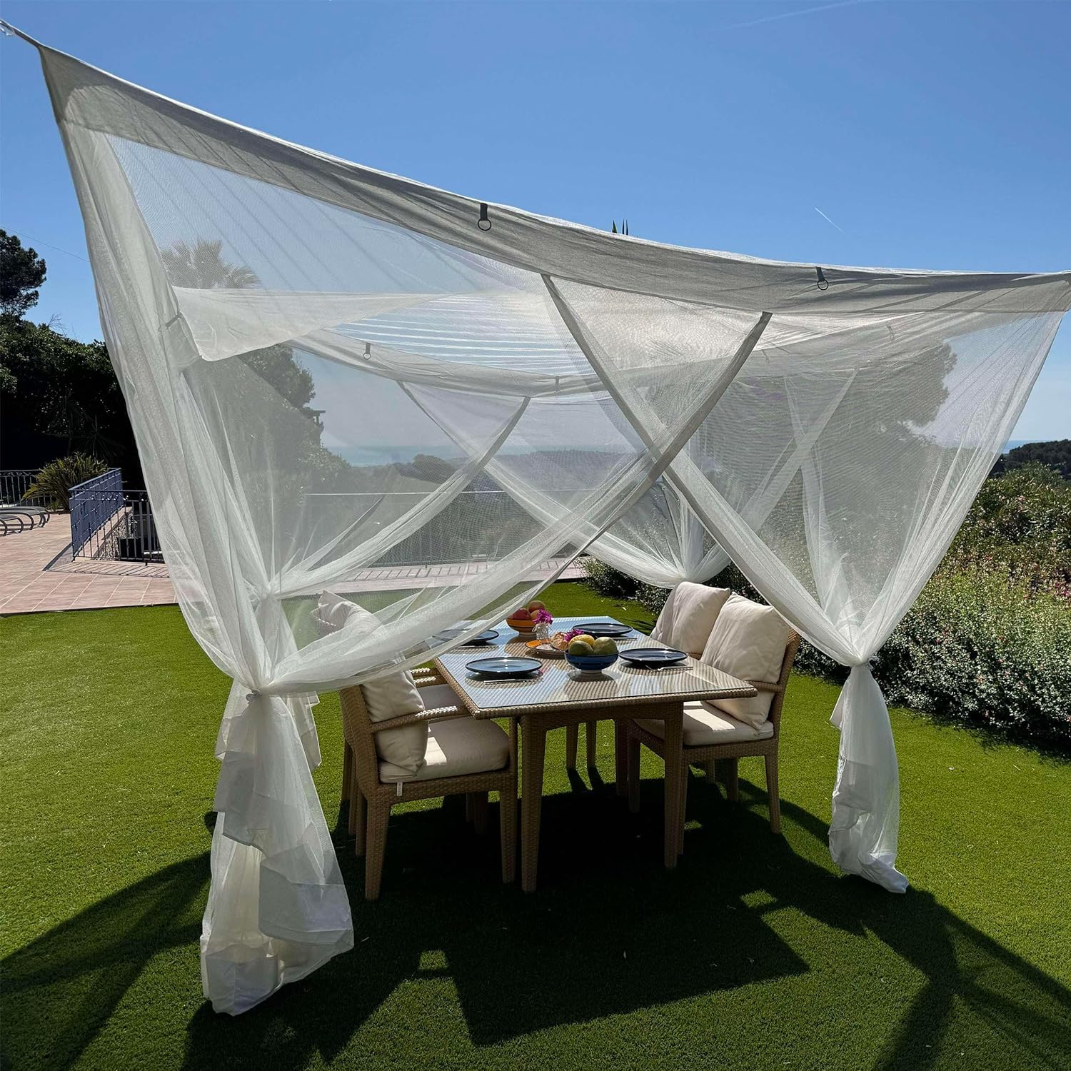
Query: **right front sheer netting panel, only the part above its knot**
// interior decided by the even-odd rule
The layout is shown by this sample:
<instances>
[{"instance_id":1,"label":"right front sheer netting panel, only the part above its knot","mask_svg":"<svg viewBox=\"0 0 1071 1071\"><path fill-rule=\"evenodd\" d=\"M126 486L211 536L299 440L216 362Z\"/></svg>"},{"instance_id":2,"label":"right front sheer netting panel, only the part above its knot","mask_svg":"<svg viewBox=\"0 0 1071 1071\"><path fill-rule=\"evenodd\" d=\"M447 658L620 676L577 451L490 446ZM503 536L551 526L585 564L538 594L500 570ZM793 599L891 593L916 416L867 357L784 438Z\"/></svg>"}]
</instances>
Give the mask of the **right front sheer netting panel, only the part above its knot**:
<instances>
[{"instance_id":1,"label":"right front sheer netting panel, only the part above its knot","mask_svg":"<svg viewBox=\"0 0 1071 1071\"><path fill-rule=\"evenodd\" d=\"M774 317L678 458L695 459L855 658L899 620L897 577L914 599L936 567L1059 315L899 319L910 322L883 326L885 340L859 328L857 342L835 323L779 333Z\"/></svg>"}]
</instances>

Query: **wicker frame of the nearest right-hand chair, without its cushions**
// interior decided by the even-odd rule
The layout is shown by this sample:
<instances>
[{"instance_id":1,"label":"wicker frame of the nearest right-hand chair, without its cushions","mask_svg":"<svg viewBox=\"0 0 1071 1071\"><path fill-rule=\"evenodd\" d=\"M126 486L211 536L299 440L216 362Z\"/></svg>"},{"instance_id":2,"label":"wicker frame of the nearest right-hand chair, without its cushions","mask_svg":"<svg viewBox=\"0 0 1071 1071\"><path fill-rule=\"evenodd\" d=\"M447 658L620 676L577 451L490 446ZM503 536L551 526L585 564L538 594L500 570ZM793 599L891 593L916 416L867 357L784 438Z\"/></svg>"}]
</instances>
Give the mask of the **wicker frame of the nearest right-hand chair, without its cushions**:
<instances>
[{"instance_id":1,"label":"wicker frame of the nearest right-hand chair, without its cushions","mask_svg":"<svg viewBox=\"0 0 1071 1071\"><path fill-rule=\"evenodd\" d=\"M760 692L773 692L770 704L769 721L773 733L755 739L733 740L719 744L689 746L684 742L684 778L681 782L681 843L678 853L683 854L684 808L688 801L688 768L702 766L707 774L708 783L713 783L716 764L722 764L725 775L725 794L733 802L739 798L739 779L737 767L740 758L749 755L761 755L766 759L766 790L770 798L770 828L774 833L781 832L781 800L778 796L778 740L781 737L781 711L785 703L785 689L788 684L788 674L796 651L799 649L800 637L793 632L785 646L785 654L781 662L781 674L775 684L765 681L749 681ZM727 715L726 715L727 716ZM687 721L687 715L685 715ZM649 731L636 721L625 722L625 738L628 741L627 763L629 769L629 808L633 813L639 810L639 745L645 744L657 755L665 759L665 750L660 736ZM740 723L741 725L743 723Z\"/></svg>"}]
</instances>

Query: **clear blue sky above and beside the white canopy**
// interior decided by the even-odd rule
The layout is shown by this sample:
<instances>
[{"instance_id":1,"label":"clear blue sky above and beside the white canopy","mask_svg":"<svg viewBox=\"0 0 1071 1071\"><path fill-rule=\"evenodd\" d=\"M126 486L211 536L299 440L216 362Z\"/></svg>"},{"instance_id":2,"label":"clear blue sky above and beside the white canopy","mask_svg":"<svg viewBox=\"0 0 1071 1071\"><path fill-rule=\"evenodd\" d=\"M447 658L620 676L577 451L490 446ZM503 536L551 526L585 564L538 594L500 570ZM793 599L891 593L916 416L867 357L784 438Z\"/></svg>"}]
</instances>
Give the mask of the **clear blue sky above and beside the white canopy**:
<instances>
[{"instance_id":1,"label":"clear blue sky above and beside the white canopy","mask_svg":"<svg viewBox=\"0 0 1071 1071\"><path fill-rule=\"evenodd\" d=\"M245 125L592 226L627 215L644 238L809 262L1071 268L1059 0L37 0L0 17ZM59 135L16 40L0 92L0 226L48 261L37 318L97 337ZM1065 325L1014 438L1068 436Z\"/></svg>"}]
</instances>

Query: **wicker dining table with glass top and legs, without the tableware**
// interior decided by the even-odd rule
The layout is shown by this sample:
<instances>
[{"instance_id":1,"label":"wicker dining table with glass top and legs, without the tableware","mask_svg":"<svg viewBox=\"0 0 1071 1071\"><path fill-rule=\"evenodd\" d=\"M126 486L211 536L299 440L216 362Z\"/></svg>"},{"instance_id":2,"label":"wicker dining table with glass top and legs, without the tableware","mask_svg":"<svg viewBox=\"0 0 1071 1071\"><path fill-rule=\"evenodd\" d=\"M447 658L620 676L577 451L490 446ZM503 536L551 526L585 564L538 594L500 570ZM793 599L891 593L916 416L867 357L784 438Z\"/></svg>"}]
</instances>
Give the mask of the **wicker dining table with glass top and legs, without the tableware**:
<instances>
[{"instance_id":1,"label":"wicker dining table with glass top and legs, without the tableware","mask_svg":"<svg viewBox=\"0 0 1071 1071\"><path fill-rule=\"evenodd\" d=\"M621 622L612 617L556 618L555 631L568 631L586 621ZM582 674L563 658L544 658L543 672L533 678L495 680L466 668L467 663L493 654L532 655L527 642L504 622L496 627L492 645L457 647L435 660L473 718L515 718L521 725L521 887L536 888L539 827L543 797L546 735L550 729L597 720L615 725L615 782L618 796L628 790L624 723L632 718L665 722L664 858L677 865L680 844L680 793L683 784L684 704L690 699L727 699L756 695L751 684L693 658L661 669L643 669L621 660L600 674ZM633 631L617 640L618 648L666 647ZM488 649L491 648L491 649ZM497 649L495 649L497 648Z\"/></svg>"}]
</instances>

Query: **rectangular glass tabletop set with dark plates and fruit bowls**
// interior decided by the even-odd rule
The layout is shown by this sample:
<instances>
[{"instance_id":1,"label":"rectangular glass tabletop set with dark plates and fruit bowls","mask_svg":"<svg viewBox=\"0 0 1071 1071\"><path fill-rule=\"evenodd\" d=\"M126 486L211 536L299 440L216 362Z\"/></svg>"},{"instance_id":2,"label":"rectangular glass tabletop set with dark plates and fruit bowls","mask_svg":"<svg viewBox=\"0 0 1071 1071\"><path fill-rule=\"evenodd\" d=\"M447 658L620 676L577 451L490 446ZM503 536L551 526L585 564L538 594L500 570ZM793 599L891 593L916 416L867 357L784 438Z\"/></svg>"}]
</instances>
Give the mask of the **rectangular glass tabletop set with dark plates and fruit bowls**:
<instances>
[{"instance_id":1,"label":"rectangular glass tabletop set with dark plates and fruit bowls","mask_svg":"<svg viewBox=\"0 0 1071 1071\"><path fill-rule=\"evenodd\" d=\"M583 621L616 622L612 617L559 617L553 632L565 632ZM503 654L532 653L527 637L522 638L508 624L495 625L499 637L494 645ZM624 647L666 647L650 636L633 632L617 640ZM440 654L439 670L453 685L469 711L477 718L516 716L533 708L614 707L685 699L736 698L755 695L746 681L730 677L721 669L704 665L689 657L678 665L659 669L631 666L620 659L600 674L580 673L563 658L544 658L543 673L525 680L487 680L469 673L465 664L472 661L471 648Z\"/></svg>"}]
</instances>

